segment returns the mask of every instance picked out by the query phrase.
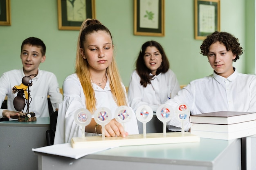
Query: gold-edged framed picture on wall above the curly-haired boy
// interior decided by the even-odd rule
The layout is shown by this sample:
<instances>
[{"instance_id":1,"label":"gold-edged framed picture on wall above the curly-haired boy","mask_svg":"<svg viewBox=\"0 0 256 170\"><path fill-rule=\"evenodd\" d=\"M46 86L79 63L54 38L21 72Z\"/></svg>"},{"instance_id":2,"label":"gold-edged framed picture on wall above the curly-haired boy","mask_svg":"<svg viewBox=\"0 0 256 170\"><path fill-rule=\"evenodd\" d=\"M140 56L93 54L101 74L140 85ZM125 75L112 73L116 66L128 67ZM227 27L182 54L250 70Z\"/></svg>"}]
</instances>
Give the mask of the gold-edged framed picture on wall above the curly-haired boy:
<instances>
[{"instance_id":1,"label":"gold-edged framed picture on wall above the curly-haired boy","mask_svg":"<svg viewBox=\"0 0 256 170\"><path fill-rule=\"evenodd\" d=\"M220 0L195 0L195 39L220 31Z\"/></svg>"}]
</instances>

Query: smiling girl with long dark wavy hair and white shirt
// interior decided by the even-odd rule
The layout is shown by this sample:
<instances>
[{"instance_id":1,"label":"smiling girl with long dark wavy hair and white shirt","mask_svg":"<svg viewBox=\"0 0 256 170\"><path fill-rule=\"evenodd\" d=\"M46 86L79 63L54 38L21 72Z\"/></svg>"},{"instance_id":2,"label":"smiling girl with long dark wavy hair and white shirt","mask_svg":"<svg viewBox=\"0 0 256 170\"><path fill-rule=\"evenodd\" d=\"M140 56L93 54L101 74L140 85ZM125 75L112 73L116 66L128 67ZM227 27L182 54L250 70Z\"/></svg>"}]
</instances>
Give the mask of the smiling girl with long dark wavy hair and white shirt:
<instances>
[{"instance_id":1,"label":"smiling girl with long dark wavy hair and white shirt","mask_svg":"<svg viewBox=\"0 0 256 170\"><path fill-rule=\"evenodd\" d=\"M176 75L169 67L161 44L148 41L142 45L128 88L128 100L133 110L146 104L156 111L180 91Z\"/></svg>"}]
</instances>

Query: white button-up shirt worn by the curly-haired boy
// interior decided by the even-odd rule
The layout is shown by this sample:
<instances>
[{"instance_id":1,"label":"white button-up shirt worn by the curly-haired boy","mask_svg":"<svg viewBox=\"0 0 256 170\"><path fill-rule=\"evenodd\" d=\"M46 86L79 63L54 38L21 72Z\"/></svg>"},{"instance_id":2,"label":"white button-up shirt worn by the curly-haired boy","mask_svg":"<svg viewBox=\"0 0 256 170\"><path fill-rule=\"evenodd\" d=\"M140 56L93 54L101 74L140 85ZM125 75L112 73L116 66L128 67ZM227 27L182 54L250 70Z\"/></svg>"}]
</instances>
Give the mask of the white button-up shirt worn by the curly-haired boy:
<instances>
[{"instance_id":1,"label":"white button-up shirt worn by the curly-haired boy","mask_svg":"<svg viewBox=\"0 0 256 170\"><path fill-rule=\"evenodd\" d=\"M212 75L190 82L177 96L166 102L174 110L180 103L187 104L192 115L217 111L256 111L256 75L235 70L225 78L213 72ZM169 130L181 130L177 117L167 122L167 126ZM184 128L189 130L189 119L184 122Z\"/></svg>"}]
</instances>

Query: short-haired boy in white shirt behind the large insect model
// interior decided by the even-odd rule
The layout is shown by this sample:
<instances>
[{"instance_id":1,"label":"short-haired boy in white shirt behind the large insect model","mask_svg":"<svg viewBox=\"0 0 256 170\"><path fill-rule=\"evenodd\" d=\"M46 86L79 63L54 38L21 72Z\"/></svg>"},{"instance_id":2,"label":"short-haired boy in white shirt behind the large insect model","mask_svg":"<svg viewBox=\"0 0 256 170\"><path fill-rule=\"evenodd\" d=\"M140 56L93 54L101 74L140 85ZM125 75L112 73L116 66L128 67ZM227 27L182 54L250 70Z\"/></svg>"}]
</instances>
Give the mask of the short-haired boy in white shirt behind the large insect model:
<instances>
[{"instance_id":1,"label":"short-haired boy in white shirt behind the large insect model","mask_svg":"<svg viewBox=\"0 0 256 170\"><path fill-rule=\"evenodd\" d=\"M29 112L34 112L36 117L49 117L48 95L53 109L58 108L58 104L62 102L62 94L59 90L57 78L54 73L39 69L40 63L45 61L45 51L45 44L39 38L30 37L22 42L20 59L23 68L7 71L0 77L0 102L4 101L6 95L8 96L8 110L0 109L0 117L20 117L13 106L13 99L17 96L17 93L13 94L12 88L20 85L24 76L30 76L32 79L32 86L29 87L31 97ZM26 110L27 104L23 112Z\"/></svg>"}]
</instances>

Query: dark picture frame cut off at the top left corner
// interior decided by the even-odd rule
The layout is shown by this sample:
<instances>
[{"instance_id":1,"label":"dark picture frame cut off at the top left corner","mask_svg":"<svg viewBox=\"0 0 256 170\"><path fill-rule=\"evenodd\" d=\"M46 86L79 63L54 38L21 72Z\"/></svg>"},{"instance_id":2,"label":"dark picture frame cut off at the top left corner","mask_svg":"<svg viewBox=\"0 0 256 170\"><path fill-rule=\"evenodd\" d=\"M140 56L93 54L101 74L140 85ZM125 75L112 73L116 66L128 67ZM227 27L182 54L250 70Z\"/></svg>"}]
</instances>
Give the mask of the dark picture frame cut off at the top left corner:
<instances>
[{"instance_id":1,"label":"dark picture frame cut off at the top left corner","mask_svg":"<svg viewBox=\"0 0 256 170\"><path fill-rule=\"evenodd\" d=\"M0 25L11 25L10 0L0 0Z\"/></svg>"}]
</instances>

